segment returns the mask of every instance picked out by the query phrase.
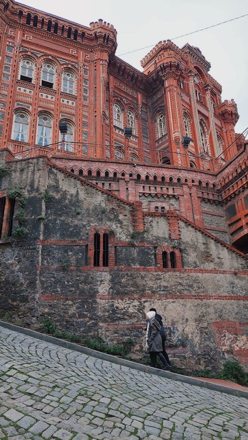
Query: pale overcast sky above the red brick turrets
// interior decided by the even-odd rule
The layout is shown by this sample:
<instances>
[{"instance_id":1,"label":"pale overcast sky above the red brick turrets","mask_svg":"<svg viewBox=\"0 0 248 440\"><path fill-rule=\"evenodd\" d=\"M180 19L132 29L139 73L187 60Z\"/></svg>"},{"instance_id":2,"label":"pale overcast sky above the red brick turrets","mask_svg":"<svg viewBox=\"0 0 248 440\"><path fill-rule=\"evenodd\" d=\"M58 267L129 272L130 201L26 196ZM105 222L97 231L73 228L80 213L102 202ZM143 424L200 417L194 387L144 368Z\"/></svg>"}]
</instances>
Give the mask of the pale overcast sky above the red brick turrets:
<instances>
[{"instance_id":1,"label":"pale overcast sky above the red brick turrets","mask_svg":"<svg viewBox=\"0 0 248 440\"><path fill-rule=\"evenodd\" d=\"M161 40L180 48L198 47L211 63L209 73L222 85L222 100L234 98L248 127L248 16L212 29L176 38L248 13L247 0L26 0L22 3L84 26L102 18L118 32L116 55L142 71L140 60ZM151 46L128 55L129 51Z\"/></svg>"}]
</instances>

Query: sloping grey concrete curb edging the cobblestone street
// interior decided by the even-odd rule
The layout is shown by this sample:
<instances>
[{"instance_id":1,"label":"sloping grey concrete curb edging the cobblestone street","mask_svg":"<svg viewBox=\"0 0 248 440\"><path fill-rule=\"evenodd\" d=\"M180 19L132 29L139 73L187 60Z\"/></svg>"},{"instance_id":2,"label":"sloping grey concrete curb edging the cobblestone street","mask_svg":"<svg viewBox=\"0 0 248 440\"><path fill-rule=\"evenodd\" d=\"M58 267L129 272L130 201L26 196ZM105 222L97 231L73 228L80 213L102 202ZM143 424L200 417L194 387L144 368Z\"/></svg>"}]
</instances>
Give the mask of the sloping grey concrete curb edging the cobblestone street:
<instances>
[{"instance_id":1,"label":"sloping grey concrete curb edging the cobblestone street","mask_svg":"<svg viewBox=\"0 0 248 440\"><path fill-rule=\"evenodd\" d=\"M201 388L207 388L213 391L224 392L226 394L231 394L237 397L248 398L248 390L231 388L230 386L218 385L211 382L205 382L191 376L183 376L181 374L172 373L170 371L163 371L157 368L149 367L143 364L137 364L136 362L128 361L111 354L102 353L101 351L92 350L91 348L83 347L82 345L77 345L72 342L65 341L63 339L58 339L54 336L50 336L45 333L40 333L39 331L25 329L24 327L19 327L14 324L7 323L5 321L0 321L0 327L4 329L9 329L16 331L18 333L31 336L35 339L40 339L45 342L50 342L52 344L58 345L63 348L68 348L69 350L78 351L79 353L87 354L88 356L93 356L98 359L102 359L113 364L123 365L124 367L132 368L133 370L142 371L144 373L153 374L155 376L161 376L163 378L172 379L173 381L183 382L185 384L199 386Z\"/></svg>"}]
</instances>

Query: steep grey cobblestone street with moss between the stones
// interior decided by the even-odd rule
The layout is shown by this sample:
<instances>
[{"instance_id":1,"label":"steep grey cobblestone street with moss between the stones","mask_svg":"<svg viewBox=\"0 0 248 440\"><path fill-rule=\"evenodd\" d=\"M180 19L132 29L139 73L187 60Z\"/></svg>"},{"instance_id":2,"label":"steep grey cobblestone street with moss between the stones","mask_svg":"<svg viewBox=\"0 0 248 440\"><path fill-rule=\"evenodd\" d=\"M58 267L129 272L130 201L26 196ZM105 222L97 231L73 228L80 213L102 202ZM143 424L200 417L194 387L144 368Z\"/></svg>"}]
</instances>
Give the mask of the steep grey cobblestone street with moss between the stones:
<instances>
[{"instance_id":1,"label":"steep grey cobblestone street with moss between the stones","mask_svg":"<svg viewBox=\"0 0 248 440\"><path fill-rule=\"evenodd\" d=\"M247 403L0 328L0 439L248 440Z\"/></svg>"}]
</instances>

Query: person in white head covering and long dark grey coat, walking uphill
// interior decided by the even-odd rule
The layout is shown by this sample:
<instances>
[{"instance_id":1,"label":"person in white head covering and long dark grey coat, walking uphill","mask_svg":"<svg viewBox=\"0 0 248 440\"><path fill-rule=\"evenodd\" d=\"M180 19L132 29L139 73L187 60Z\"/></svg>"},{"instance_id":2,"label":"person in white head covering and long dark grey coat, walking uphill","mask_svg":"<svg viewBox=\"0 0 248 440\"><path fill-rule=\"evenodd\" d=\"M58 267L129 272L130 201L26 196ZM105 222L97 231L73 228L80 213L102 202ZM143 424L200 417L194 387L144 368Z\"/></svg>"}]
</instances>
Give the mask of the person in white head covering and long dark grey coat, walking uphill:
<instances>
[{"instance_id":1,"label":"person in white head covering and long dark grey coat, walking uphill","mask_svg":"<svg viewBox=\"0 0 248 440\"><path fill-rule=\"evenodd\" d=\"M155 319L156 313L154 311L149 311L146 313L146 319L148 321L146 328L146 350L150 354L151 366L156 367L157 355L164 364L163 370L170 370L170 365L165 359L162 350L162 338L160 334L160 324Z\"/></svg>"}]
</instances>

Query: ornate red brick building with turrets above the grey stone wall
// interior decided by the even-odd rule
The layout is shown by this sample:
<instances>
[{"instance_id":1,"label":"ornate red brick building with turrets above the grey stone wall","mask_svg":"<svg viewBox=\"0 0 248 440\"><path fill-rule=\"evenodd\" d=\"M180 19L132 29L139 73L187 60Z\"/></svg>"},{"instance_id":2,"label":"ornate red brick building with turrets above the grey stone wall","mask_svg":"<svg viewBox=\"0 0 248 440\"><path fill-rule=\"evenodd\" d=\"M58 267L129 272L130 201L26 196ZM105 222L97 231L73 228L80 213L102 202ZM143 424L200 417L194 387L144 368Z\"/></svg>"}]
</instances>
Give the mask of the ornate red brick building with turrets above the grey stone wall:
<instances>
[{"instance_id":1,"label":"ornate red brick building with turrets above the grey stone wall","mask_svg":"<svg viewBox=\"0 0 248 440\"><path fill-rule=\"evenodd\" d=\"M86 27L2 0L1 148L16 159L48 155L141 201L144 213L174 210L247 252L247 150L235 102L222 102L198 48L160 42L141 73L115 56L116 37L102 20Z\"/></svg>"}]
</instances>

